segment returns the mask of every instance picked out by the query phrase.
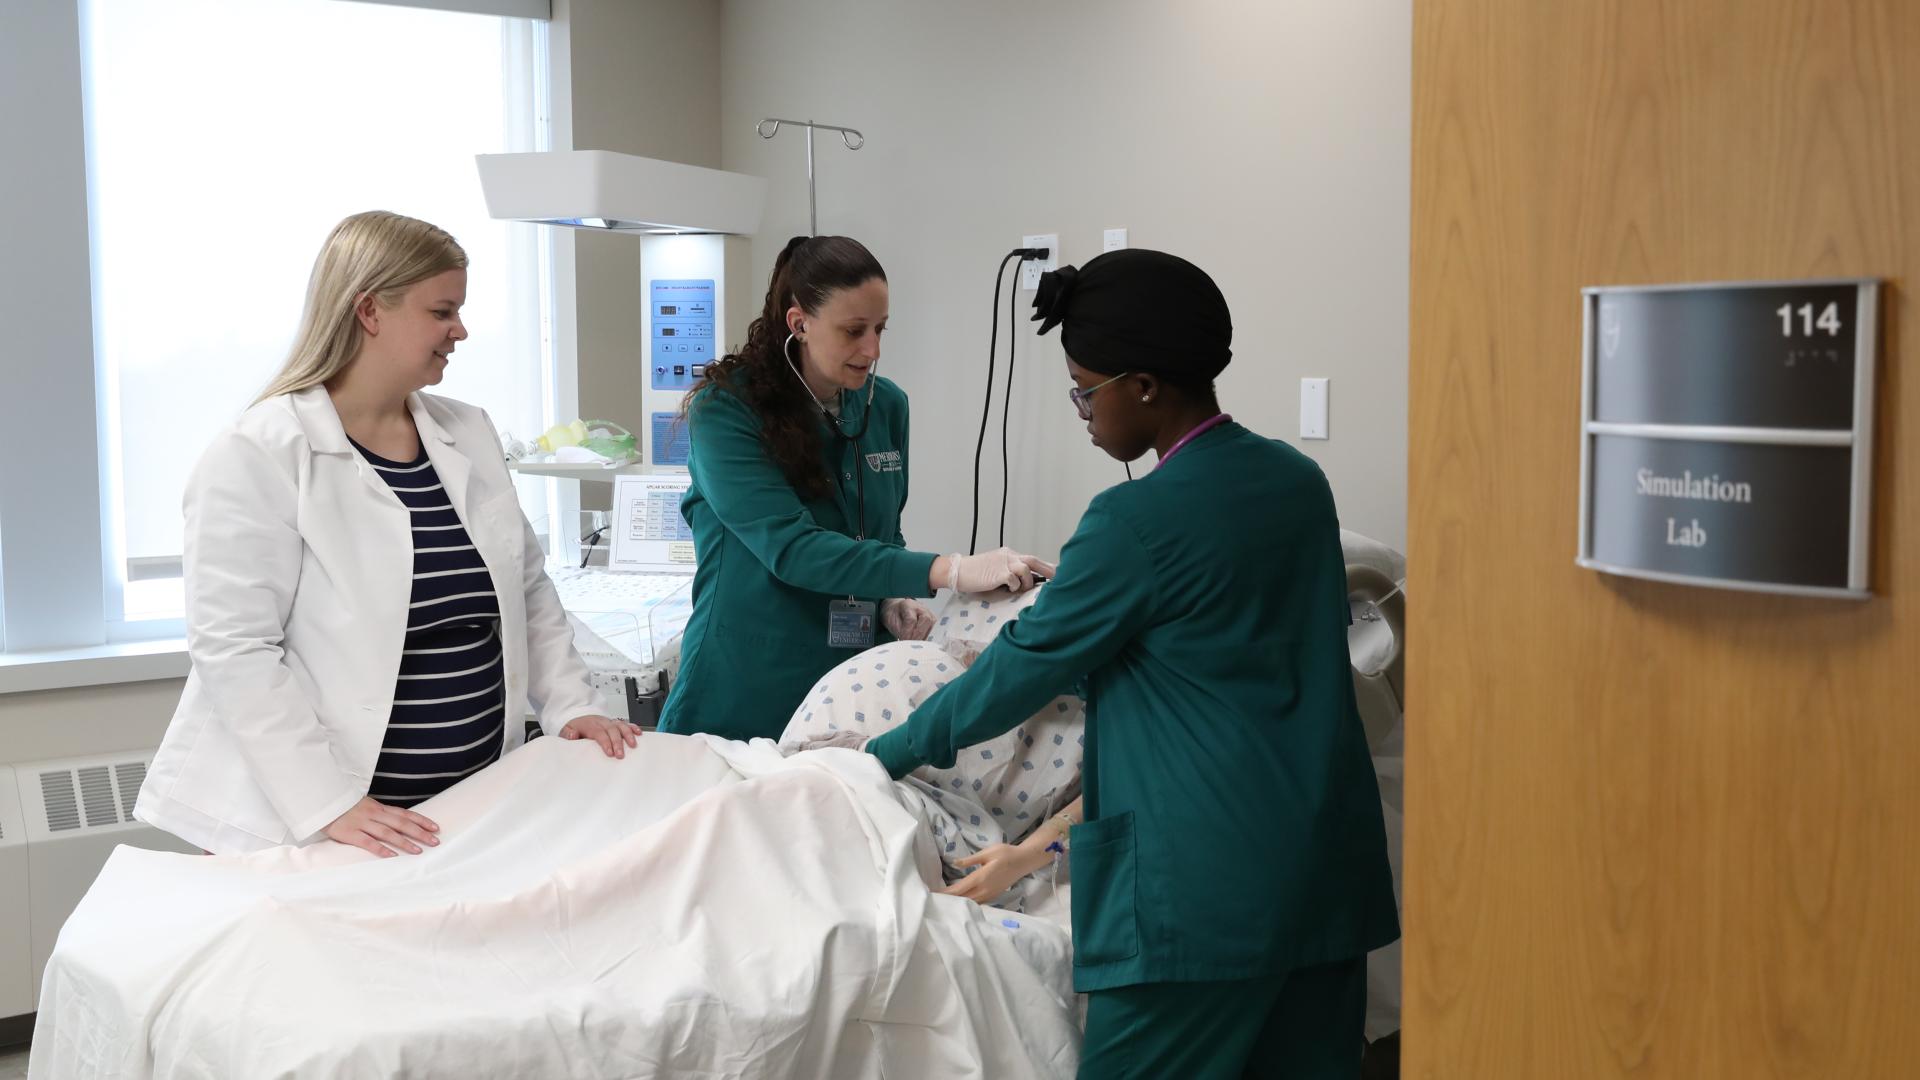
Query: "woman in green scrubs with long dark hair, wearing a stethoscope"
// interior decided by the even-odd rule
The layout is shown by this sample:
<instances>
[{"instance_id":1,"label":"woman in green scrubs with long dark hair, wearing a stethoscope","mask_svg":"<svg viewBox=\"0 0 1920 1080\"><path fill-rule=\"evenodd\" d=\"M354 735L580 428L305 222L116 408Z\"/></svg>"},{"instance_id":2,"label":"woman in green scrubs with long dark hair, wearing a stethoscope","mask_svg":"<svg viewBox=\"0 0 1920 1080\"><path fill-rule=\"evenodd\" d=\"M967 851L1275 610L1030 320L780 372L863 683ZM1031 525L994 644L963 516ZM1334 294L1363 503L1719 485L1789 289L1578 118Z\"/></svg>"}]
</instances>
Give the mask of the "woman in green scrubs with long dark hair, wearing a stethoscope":
<instances>
[{"instance_id":1,"label":"woman in green scrubs with long dark hair, wearing a stethoscope","mask_svg":"<svg viewBox=\"0 0 1920 1080\"><path fill-rule=\"evenodd\" d=\"M874 373L887 273L858 240L795 236L739 352L687 394L693 617L664 732L780 738L835 663L925 638L916 598L1031 588L1008 550L908 552L906 394Z\"/></svg>"}]
</instances>

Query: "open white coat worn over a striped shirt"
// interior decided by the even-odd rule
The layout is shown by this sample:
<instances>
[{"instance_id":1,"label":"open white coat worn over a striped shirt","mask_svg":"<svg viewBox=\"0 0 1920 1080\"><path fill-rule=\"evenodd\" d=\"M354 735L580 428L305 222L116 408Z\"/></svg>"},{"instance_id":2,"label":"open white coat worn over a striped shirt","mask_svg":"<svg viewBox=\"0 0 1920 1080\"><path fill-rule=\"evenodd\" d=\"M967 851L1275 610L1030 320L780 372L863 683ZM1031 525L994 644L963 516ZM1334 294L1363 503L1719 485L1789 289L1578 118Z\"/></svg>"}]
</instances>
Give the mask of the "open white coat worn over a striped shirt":
<instances>
[{"instance_id":1,"label":"open white coat worn over a striped shirt","mask_svg":"<svg viewBox=\"0 0 1920 1080\"><path fill-rule=\"evenodd\" d=\"M507 736L603 713L482 409L413 394L420 444L499 594ZM215 853L315 840L369 788L407 632L407 507L323 386L248 409L186 484L192 673L134 817Z\"/></svg>"}]
</instances>

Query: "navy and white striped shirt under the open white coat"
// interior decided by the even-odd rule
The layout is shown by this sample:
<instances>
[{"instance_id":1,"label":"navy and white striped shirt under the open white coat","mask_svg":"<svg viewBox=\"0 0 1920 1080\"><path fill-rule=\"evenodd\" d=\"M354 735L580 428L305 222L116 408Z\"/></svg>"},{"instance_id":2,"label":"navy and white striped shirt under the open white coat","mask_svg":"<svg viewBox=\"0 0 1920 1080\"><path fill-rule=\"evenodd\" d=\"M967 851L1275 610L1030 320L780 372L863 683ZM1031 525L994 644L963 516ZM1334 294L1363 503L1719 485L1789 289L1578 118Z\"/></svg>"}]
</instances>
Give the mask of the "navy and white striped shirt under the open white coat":
<instances>
[{"instance_id":1,"label":"navy and white striped shirt under the open white coat","mask_svg":"<svg viewBox=\"0 0 1920 1080\"><path fill-rule=\"evenodd\" d=\"M499 759L507 717L499 596L426 448L409 463L353 448L413 515L407 644L369 792L411 807Z\"/></svg>"}]
</instances>

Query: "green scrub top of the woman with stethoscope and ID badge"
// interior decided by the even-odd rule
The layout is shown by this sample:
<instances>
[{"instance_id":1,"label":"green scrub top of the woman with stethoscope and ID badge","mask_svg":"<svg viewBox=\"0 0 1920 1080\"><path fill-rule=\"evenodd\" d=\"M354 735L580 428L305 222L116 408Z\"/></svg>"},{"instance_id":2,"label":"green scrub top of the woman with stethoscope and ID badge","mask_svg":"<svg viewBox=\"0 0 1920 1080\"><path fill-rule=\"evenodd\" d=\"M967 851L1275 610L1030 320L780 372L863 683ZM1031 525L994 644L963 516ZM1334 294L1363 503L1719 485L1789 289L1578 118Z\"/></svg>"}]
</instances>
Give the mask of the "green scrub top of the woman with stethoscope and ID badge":
<instances>
[{"instance_id":1,"label":"green scrub top of the woman with stethoscope and ID badge","mask_svg":"<svg viewBox=\"0 0 1920 1080\"><path fill-rule=\"evenodd\" d=\"M841 394L849 432L860 430L866 409L864 392ZM879 379L872 409L858 446L820 421L822 463L835 484L826 498L803 500L766 454L758 413L722 388L695 394L693 482L680 502L697 557L693 617L660 730L780 738L812 684L860 651L828 646L833 600L929 596L935 555L908 552L900 536L906 394ZM868 540L854 538L862 482ZM876 611L874 642L887 640Z\"/></svg>"}]
</instances>

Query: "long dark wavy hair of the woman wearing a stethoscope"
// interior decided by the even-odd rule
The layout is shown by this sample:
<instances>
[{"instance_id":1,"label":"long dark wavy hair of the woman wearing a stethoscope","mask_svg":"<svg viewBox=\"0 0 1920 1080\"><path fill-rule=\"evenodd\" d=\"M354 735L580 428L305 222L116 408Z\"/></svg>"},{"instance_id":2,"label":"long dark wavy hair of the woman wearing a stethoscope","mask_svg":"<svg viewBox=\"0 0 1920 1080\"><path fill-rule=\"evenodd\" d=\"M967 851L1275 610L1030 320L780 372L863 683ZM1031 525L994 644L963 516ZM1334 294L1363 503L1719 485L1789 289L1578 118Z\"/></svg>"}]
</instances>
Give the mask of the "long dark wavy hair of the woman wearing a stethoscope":
<instances>
[{"instance_id":1,"label":"long dark wavy hair of the woman wearing a stethoscope","mask_svg":"<svg viewBox=\"0 0 1920 1080\"><path fill-rule=\"evenodd\" d=\"M707 365L707 375L682 402L682 415L695 398L718 386L747 404L760 417L766 455L803 498L826 498L833 477L822 465L820 409L806 386L787 367L787 307L799 306L818 315L829 296L887 271L864 244L849 236L795 236L774 259L766 284L766 306L747 327L747 344ZM795 363L799 363L795 359Z\"/></svg>"}]
</instances>

